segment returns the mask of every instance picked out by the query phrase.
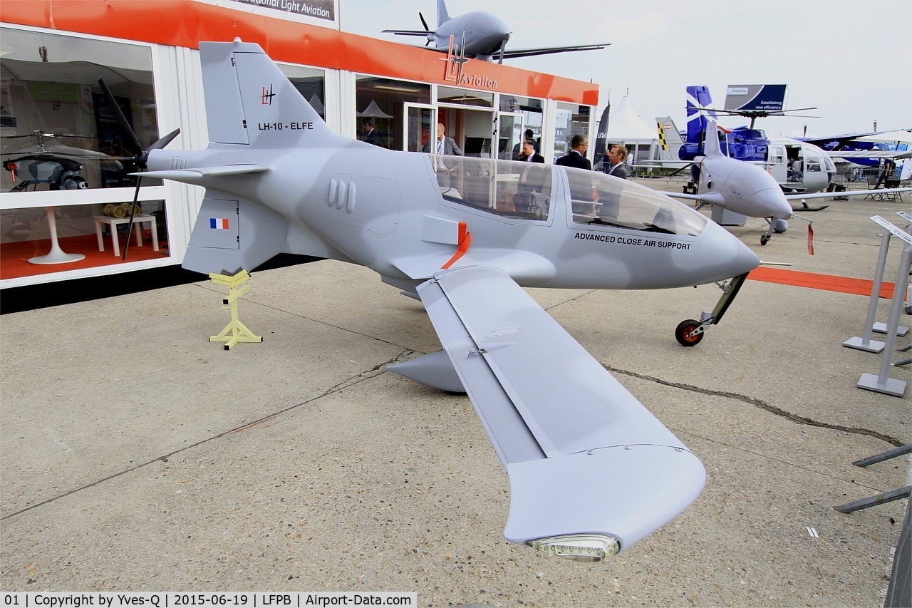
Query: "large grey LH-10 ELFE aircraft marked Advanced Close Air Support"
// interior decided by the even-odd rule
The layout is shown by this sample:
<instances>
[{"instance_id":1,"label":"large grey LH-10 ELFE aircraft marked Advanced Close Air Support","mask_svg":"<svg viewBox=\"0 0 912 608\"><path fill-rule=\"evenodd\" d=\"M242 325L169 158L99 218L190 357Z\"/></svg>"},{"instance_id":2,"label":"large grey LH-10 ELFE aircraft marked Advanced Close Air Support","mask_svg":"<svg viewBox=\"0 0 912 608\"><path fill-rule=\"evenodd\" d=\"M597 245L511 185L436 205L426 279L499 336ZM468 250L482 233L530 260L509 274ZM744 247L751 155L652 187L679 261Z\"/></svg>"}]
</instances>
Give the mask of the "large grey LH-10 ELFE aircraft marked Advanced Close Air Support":
<instances>
[{"instance_id":1,"label":"large grey LH-10 ELFE aircraft marked Advanced Close Air Support","mask_svg":"<svg viewBox=\"0 0 912 608\"><path fill-rule=\"evenodd\" d=\"M390 369L468 393L510 477L511 542L599 561L699 496L697 456L523 287L733 278L713 313L689 321L696 343L760 263L747 246L605 174L337 135L255 44L201 43L200 57L209 146L150 150L142 173L206 188L184 267L233 274L280 252L327 257L420 299L443 351Z\"/></svg>"}]
</instances>

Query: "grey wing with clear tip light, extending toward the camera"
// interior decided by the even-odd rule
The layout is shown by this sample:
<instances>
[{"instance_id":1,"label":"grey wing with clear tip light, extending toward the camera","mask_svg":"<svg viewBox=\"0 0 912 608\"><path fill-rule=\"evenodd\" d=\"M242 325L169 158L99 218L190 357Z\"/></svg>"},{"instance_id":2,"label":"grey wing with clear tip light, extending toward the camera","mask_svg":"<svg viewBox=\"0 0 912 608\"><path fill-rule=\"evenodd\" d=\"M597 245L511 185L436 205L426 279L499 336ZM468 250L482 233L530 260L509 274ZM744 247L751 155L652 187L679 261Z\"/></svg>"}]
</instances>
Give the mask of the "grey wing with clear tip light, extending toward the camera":
<instances>
[{"instance_id":1,"label":"grey wing with clear tip light, extending toward the camera","mask_svg":"<svg viewBox=\"0 0 912 608\"><path fill-rule=\"evenodd\" d=\"M502 269L418 292L510 477L507 540L597 561L700 495L697 456Z\"/></svg>"}]
</instances>

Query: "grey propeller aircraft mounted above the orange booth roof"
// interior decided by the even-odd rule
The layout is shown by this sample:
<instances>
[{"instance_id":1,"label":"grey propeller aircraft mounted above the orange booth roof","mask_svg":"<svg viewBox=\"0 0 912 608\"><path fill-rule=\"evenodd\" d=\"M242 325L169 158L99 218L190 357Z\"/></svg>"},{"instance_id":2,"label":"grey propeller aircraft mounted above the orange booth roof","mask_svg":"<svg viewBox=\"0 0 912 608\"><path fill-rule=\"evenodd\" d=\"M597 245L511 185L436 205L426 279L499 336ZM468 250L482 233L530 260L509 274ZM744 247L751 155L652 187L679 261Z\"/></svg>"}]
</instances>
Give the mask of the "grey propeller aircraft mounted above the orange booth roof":
<instances>
[{"instance_id":1,"label":"grey propeller aircraft mounted above the orange booth roof","mask_svg":"<svg viewBox=\"0 0 912 608\"><path fill-rule=\"evenodd\" d=\"M425 43L425 47L429 46L430 43L434 43L434 50L443 53L452 52L461 58L482 59L484 61L492 61L496 56L498 63L503 63L504 58L598 50L610 44L507 50L507 41L513 32L499 17L491 13L472 11L465 15L450 17L444 0L437 0L437 29L431 30L424 20L424 16L420 13L418 16L424 29L385 29L383 33L427 37L428 42Z\"/></svg>"}]
</instances>

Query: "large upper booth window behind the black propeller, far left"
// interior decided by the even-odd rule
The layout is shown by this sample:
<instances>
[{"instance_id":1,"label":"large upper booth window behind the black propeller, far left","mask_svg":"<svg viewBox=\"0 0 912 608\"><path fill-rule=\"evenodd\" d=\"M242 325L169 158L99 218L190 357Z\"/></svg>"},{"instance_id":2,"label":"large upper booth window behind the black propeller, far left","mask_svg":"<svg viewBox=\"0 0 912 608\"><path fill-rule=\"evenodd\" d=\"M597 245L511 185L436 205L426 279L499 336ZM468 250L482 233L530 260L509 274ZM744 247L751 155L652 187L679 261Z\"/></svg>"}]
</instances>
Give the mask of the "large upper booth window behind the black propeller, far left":
<instances>
[{"instance_id":1,"label":"large upper booth window behind the black propeller, far left","mask_svg":"<svg viewBox=\"0 0 912 608\"><path fill-rule=\"evenodd\" d=\"M0 28L0 39L0 187L24 192L135 185L128 173L138 169L136 155L159 139L150 48L7 27ZM98 79L113 93L139 149Z\"/></svg>"}]
</instances>

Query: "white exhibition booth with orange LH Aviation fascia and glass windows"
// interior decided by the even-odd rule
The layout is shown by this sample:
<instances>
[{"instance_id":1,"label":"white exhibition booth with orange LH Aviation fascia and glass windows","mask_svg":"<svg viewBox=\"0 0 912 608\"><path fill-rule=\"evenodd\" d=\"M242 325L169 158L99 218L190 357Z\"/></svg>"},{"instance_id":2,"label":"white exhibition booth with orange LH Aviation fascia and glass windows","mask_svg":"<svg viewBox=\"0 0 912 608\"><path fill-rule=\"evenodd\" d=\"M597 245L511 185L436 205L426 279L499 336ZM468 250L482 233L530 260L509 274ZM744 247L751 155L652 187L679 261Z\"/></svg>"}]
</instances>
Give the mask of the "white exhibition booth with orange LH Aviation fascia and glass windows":
<instances>
[{"instance_id":1,"label":"white exhibition booth with orange LH Aviation fascia and glass windows","mask_svg":"<svg viewBox=\"0 0 912 608\"><path fill-rule=\"evenodd\" d=\"M175 148L208 144L201 41L259 44L333 131L392 150L439 122L479 158L513 158L526 130L546 162L594 139L597 85L348 34L340 3L4 0L0 288L181 263L202 189L143 179L130 226L130 173L174 129Z\"/></svg>"}]
</instances>

